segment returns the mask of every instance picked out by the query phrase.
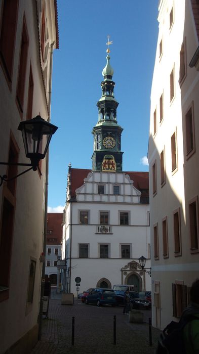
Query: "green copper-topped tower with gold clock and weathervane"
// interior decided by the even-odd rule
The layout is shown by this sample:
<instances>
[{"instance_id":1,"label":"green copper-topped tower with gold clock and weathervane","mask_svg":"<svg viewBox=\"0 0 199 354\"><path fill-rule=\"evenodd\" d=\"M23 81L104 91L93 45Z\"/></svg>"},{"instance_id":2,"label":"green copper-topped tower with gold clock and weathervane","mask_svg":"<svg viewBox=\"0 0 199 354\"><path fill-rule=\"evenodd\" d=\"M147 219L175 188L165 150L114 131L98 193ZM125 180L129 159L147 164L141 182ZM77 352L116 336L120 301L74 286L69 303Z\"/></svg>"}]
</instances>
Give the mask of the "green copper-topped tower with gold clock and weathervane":
<instances>
[{"instance_id":1,"label":"green copper-topped tower with gold clock and weathervane","mask_svg":"<svg viewBox=\"0 0 199 354\"><path fill-rule=\"evenodd\" d=\"M107 43L108 45L110 42ZM116 110L118 102L114 99L113 69L110 65L110 50L107 49L106 66L102 71L102 97L97 102L98 122L92 130L94 152L92 170L122 172L121 134L123 128L117 124Z\"/></svg>"}]
</instances>

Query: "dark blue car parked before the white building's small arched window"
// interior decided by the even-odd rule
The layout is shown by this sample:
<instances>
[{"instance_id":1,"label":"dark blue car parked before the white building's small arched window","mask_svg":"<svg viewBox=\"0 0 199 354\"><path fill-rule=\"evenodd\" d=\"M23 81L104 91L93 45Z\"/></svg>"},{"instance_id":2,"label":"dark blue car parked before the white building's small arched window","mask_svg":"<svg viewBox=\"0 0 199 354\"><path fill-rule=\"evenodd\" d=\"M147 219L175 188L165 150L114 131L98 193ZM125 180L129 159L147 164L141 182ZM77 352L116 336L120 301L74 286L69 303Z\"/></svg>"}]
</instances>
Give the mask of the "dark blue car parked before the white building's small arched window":
<instances>
[{"instance_id":1,"label":"dark blue car parked before the white building's small arched window","mask_svg":"<svg viewBox=\"0 0 199 354\"><path fill-rule=\"evenodd\" d=\"M112 289L95 288L86 297L86 304L94 303L100 305L116 305L115 293Z\"/></svg>"}]
</instances>

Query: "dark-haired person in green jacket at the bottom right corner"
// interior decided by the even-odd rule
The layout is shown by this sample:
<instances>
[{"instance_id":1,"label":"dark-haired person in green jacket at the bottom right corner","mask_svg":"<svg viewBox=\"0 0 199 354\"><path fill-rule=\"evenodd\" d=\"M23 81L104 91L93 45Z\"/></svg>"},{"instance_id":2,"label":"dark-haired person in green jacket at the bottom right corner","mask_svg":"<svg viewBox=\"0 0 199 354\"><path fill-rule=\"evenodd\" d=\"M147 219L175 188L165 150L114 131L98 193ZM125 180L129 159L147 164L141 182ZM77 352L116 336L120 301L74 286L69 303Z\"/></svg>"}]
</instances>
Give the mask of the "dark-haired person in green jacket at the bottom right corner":
<instances>
[{"instance_id":1,"label":"dark-haired person in green jacket at the bottom right corner","mask_svg":"<svg viewBox=\"0 0 199 354\"><path fill-rule=\"evenodd\" d=\"M199 279L190 288L190 306L182 313L182 318L194 316L183 329L183 338L187 354L199 354Z\"/></svg>"}]
</instances>

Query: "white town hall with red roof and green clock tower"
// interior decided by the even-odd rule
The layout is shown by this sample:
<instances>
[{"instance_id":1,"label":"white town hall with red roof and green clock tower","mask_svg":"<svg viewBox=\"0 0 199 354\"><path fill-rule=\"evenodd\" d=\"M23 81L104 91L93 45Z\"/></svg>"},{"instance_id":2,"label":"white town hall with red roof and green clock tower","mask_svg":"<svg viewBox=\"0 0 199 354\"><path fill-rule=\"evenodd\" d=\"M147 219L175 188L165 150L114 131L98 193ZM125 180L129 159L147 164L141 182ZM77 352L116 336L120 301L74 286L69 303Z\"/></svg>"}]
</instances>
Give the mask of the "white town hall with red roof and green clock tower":
<instances>
[{"instance_id":1,"label":"white town hall with red roof and green clock tower","mask_svg":"<svg viewBox=\"0 0 199 354\"><path fill-rule=\"evenodd\" d=\"M62 290L112 288L133 284L135 291L150 290L148 172L123 171L121 135L117 124L113 69L109 49L102 71L102 96L97 102L98 122L92 130L92 169L72 168L67 177L62 239Z\"/></svg>"}]
</instances>

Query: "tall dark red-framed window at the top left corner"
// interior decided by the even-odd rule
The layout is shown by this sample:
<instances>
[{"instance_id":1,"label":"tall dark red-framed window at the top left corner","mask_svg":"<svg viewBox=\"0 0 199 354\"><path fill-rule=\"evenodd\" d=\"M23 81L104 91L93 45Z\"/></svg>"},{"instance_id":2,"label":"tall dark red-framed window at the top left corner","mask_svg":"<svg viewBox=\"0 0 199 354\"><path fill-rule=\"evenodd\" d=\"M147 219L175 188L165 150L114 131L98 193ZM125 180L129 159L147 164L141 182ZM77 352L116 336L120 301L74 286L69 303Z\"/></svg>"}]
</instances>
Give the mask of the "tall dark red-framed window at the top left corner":
<instances>
[{"instance_id":1,"label":"tall dark red-framed window at the top left corner","mask_svg":"<svg viewBox=\"0 0 199 354\"><path fill-rule=\"evenodd\" d=\"M18 0L4 1L0 37L0 58L6 78L11 88L15 35L17 26Z\"/></svg>"}]
</instances>

